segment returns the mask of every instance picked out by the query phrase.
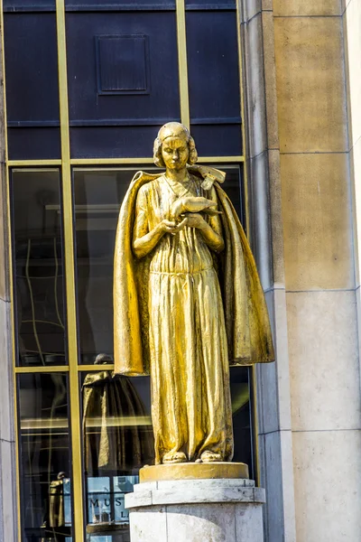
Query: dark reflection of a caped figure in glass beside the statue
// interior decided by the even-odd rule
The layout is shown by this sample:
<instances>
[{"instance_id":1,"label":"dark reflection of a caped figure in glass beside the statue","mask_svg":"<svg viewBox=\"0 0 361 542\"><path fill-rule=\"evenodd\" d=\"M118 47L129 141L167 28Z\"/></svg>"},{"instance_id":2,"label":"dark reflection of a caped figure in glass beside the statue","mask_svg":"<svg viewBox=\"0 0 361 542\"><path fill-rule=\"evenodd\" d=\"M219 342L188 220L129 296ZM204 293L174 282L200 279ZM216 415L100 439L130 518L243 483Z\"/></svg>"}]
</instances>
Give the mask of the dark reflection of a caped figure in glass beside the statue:
<instances>
[{"instance_id":1,"label":"dark reflection of a caped figure in glass beside the statue","mask_svg":"<svg viewBox=\"0 0 361 542\"><path fill-rule=\"evenodd\" d=\"M106 363L100 354L96 363ZM99 367L100 369L100 367ZM89 372L83 383L85 465L88 476L134 473L153 456L149 414L130 378Z\"/></svg>"}]
</instances>

